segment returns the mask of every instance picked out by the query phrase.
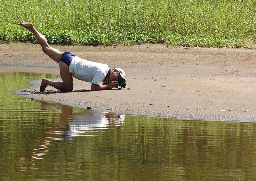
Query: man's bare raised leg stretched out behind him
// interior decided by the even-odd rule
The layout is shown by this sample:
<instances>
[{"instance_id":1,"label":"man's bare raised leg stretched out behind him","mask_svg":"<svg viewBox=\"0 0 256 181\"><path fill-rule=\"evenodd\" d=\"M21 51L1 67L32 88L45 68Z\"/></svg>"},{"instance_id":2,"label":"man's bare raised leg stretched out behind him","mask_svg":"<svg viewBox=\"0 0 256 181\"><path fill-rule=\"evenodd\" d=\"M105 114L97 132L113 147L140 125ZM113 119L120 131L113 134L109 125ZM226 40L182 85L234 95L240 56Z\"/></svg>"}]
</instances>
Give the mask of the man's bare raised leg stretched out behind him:
<instances>
[{"instance_id":1,"label":"man's bare raised leg stretched out behind him","mask_svg":"<svg viewBox=\"0 0 256 181\"><path fill-rule=\"evenodd\" d=\"M60 58L64 52L61 52L55 48L52 48L48 43L46 38L39 33L36 28L34 28L34 25L32 23L28 23L26 21L21 21L18 25L26 28L29 30L33 35L35 35L37 41L42 47L43 52L48 55L51 59L53 59L55 62L60 63Z\"/></svg>"}]
</instances>

